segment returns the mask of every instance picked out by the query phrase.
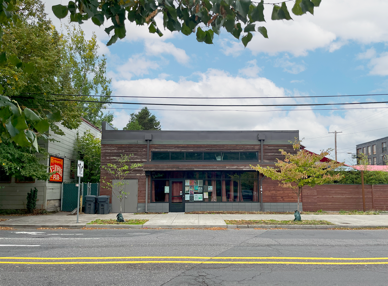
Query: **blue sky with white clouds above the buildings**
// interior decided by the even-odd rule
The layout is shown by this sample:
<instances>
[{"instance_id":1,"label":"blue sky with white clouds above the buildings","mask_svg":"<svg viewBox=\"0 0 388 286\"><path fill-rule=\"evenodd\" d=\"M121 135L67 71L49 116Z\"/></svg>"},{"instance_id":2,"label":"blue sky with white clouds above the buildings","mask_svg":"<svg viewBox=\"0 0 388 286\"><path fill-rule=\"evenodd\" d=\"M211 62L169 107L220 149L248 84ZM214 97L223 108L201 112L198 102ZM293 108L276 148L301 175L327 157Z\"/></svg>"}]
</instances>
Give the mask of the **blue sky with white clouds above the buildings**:
<instances>
[{"instance_id":1,"label":"blue sky with white clouds above the buildings","mask_svg":"<svg viewBox=\"0 0 388 286\"><path fill-rule=\"evenodd\" d=\"M51 6L67 1L45 4L55 27L68 22L51 11ZM287 2L289 11L292 4ZM160 14L156 20L164 36L127 21L127 36L109 47L104 31L109 23L98 27L87 21L81 28L87 37L97 36L98 54L107 58L112 95L146 97L113 98L136 103L112 104L108 109L119 129L127 125L131 113L147 106L162 130L299 130L302 144L313 152L334 148L334 134L329 132L337 131L342 132L337 134L338 161L355 164L348 153L355 153L356 144L388 136L388 104L373 103L388 102L386 11L386 0L322 0L314 16L291 13L293 20L272 21L272 5L266 4L269 38L254 33L246 48L226 30L215 35L213 45L197 42L194 34L163 31ZM334 97L308 97L328 95ZM323 103L340 105L254 106ZM334 151L329 157L334 158Z\"/></svg>"}]
</instances>

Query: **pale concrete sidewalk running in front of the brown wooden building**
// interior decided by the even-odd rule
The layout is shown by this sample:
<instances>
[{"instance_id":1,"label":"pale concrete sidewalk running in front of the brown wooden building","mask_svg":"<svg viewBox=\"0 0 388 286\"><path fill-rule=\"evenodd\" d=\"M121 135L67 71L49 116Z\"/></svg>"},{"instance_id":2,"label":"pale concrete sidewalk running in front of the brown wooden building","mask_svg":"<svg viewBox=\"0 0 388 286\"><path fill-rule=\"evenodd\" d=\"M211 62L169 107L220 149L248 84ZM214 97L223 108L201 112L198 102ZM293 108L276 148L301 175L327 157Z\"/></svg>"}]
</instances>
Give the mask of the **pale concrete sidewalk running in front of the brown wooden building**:
<instances>
[{"instance_id":1,"label":"pale concrete sidewalk running in front of the brown wooden building","mask_svg":"<svg viewBox=\"0 0 388 286\"><path fill-rule=\"evenodd\" d=\"M333 226L326 225L226 225L225 219L230 220L293 220L294 215L204 215L168 213L153 215L123 214L125 219L148 219L144 225L87 225L88 222L100 219L116 219L117 214L109 215L87 215L80 214L79 222L76 215L69 213L55 213L50 215L30 216L0 216L0 219L7 219L0 222L0 227L12 228L290 228L290 229L327 229ZM327 220L336 227L362 228L362 227L388 227L388 215L303 215L304 220Z\"/></svg>"}]
</instances>

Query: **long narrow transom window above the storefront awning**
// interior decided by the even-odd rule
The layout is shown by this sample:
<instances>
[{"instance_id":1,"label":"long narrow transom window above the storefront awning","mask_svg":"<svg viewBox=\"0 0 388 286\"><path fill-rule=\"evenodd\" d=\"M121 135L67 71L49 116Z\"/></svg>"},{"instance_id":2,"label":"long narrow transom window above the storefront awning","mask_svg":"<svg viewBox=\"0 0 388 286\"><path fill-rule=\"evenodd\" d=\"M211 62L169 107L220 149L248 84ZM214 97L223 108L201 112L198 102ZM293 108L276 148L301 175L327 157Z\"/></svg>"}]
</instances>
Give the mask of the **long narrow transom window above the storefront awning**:
<instances>
[{"instance_id":1,"label":"long narrow transom window above the storefront awning","mask_svg":"<svg viewBox=\"0 0 388 286\"><path fill-rule=\"evenodd\" d=\"M258 152L152 152L152 161L258 161Z\"/></svg>"}]
</instances>

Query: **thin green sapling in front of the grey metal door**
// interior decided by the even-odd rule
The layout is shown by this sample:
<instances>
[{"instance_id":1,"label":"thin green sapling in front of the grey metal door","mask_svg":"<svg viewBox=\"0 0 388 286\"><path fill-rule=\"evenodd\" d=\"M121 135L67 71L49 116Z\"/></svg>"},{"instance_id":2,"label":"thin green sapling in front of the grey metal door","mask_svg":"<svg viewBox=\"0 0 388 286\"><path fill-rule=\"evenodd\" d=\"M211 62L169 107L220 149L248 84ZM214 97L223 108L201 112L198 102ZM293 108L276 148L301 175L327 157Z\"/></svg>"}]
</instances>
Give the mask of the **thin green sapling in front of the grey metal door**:
<instances>
[{"instance_id":1,"label":"thin green sapling in front of the grey metal door","mask_svg":"<svg viewBox=\"0 0 388 286\"><path fill-rule=\"evenodd\" d=\"M134 170L143 166L142 163L130 163L130 157L133 154L122 155L120 158L117 158L117 164L107 163L103 165L102 168L109 174L109 177L113 179L108 179L106 177L102 178L101 181L105 184L102 185L103 188L111 190L112 194L116 196L120 201L120 214L122 212L122 200L125 195L128 195L128 192L124 192L125 186L128 185L128 181L125 179L132 173ZM113 181L115 180L115 181Z\"/></svg>"}]
</instances>

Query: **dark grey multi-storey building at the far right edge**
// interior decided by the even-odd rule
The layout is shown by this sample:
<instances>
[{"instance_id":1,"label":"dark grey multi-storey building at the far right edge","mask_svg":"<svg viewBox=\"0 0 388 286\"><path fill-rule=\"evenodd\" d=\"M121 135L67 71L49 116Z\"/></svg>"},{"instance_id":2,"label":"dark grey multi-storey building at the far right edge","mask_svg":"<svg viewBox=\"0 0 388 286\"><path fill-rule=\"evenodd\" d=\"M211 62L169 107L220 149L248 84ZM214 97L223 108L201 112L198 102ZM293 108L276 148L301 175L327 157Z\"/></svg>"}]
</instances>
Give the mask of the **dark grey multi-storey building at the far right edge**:
<instances>
[{"instance_id":1,"label":"dark grey multi-storey building at the far right edge","mask_svg":"<svg viewBox=\"0 0 388 286\"><path fill-rule=\"evenodd\" d=\"M364 153L368 158L369 165L385 165L388 159L387 142L388 137L383 137L370 142L357 144L356 153Z\"/></svg>"}]
</instances>

